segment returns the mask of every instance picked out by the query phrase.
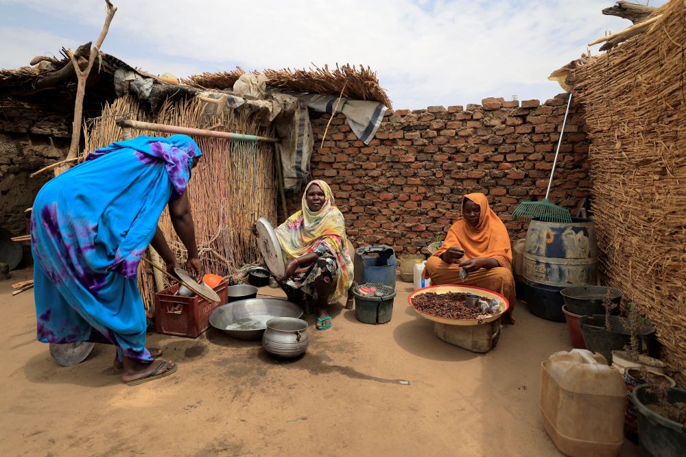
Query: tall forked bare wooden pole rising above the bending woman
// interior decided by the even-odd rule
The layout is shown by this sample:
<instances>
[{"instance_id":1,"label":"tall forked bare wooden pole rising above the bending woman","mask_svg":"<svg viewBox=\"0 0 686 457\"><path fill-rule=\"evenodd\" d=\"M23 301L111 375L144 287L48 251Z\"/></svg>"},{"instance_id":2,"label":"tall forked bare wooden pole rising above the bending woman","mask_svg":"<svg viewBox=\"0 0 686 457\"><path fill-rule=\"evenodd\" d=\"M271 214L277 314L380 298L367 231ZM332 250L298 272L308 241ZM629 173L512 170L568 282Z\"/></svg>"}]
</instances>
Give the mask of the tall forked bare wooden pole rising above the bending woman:
<instances>
[{"instance_id":1,"label":"tall forked bare wooden pole rising above the bending woman","mask_svg":"<svg viewBox=\"0 0 686 457\"><path fill-rule=\"evenodd\" d=\"M86 68L82 70L74 53L71 51L71 48L67 50L69 53L69 59L71 59L71 63L74 66L77 79L76 101L74 102L74 120L71 124L71 145L69 145L67 160L75 158L78 154L79 142L81 140L81 118L83 116L84 95L86 95L86 79L88 79L88 74L91 73L95 59L100 55L100 47L102 46L102 42L105 40L105 36L107 36L107 32L110 29L112 18L115 16L115 12L117 12L117 8L115 8L115 5L110 3L110 0L105 0L105 4L107 6L105 23L102 26L102 32L100 32L100 36L98 36L97 41L95 41L95 45L93 45L91 48L91 54L88 55L88 63L86 64ZM60 175L68 169L69 165L59 166L55 169L55 175Z\"/></svg>"}]
</instances>

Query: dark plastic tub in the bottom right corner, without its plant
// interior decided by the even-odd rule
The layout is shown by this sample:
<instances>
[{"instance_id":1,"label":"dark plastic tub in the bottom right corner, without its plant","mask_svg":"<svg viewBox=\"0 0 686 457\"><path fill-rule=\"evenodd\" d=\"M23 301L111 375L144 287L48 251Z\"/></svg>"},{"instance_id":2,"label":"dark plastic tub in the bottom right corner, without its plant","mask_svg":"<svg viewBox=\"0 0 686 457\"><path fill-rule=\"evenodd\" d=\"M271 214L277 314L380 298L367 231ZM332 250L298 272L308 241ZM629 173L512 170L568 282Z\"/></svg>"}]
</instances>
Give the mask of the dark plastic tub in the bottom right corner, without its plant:
<instances>
[{"instance_id":1,"label":"dark plastic tub in the bottom right corner, without its plant","mask_svg":"<svg viewBox=\"0 0 686 457\"><path fill-rule=\"evenodd\" d=\"M648 386L638 386L631 392L631 401L639 412L639 447L649 457L686 456L686 432L683 423L676 423L654 412L648 406L657 404L657 395ZM686 402L686 391L672 387L667 402Z\"/></svg>"}]
</instances>

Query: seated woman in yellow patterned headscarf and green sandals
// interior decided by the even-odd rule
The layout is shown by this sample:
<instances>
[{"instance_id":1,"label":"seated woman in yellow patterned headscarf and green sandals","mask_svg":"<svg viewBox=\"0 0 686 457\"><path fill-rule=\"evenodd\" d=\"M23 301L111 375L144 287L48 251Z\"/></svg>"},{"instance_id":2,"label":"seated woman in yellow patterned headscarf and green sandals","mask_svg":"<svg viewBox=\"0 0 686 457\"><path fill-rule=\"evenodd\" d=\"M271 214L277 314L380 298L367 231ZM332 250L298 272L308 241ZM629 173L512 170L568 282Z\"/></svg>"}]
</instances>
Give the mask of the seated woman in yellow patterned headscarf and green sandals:
<instances>
[{"instance_id":1,"label":"seated woman in yellow patterned headscarf and green sandals","mask_svg":"<svg viewBox=\"0 0 686 457\"><path fill-rule=\"evenodd\" d=\"M343 214L335 207L329 184L309 182L302 204L302 210L276 227L286 261L285 274L276 280L291 299L302 293L316 297L317 328L325 330L332 320L327 305L338 301L353 284L353 261ZM351 294L348 297L352 299Z\"/></svg>"}]
</instances>

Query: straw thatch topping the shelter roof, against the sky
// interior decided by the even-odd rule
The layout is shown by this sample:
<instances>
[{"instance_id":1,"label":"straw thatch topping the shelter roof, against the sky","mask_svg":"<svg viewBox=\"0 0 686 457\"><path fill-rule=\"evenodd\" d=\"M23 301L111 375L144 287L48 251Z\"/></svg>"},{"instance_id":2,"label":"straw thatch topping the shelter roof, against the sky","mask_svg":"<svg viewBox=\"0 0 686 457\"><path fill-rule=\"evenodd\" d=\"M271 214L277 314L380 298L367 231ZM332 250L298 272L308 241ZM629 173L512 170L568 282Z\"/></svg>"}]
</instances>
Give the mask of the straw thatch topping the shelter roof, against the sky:
<instances>
[{"instance_id":1,"label":"straw thatch topping the shelter roof, against the sky","mask_svg":"<svg viewBox=\"0 0 686 457\"><path fill-rule=\"evenodd\" d=\"M230 89L244 73L246 71L239 67L233 71L189 76L183 82L201 89ZM255 71L254 73L257 74L258 72ZM341 90L344 89L344 97L378 101L392 109L386 91L379 86L377 73L369 67L336 65L336 68L331 70L328 65L324 65L323 68L314 66L309 70L265 69L261 73L267 77L267 86L272 88L298 90L299 92L321 95L340 95Z\"/></svg>"}]
</instances>

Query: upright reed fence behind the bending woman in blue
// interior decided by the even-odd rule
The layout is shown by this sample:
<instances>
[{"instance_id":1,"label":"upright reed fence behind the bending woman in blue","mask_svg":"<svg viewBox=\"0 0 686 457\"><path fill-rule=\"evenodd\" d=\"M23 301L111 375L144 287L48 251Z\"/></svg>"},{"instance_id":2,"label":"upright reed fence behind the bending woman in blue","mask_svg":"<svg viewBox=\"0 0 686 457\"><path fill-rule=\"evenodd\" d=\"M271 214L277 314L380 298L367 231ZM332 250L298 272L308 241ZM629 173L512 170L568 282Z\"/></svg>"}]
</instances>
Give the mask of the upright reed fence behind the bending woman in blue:
<instances>
[{"instance_id":1,"label":"upright reed fence behind the bending woman in blue","mask_svg":"<svg viewBox=\"0 0 686 457\"><path fill-rule=\"evenodd\" d=\"M195 100L166 103L158 114L151 116L139 109L138 101L127 96L105 106L102 116L87 126L84 156L98 147L121 140L121 128L117 127L115 120L128 114L138 121L270 135L247 116L215 117L213 125L202 125L202 108ZM136 129L132 133L134 137L160 135ZM202 159L193 169L187 191L200 258L207 272L235 277L245 265L260 258L254 237L250 234L252 223L261 216L276 222L274 149L270 143L205 137L193 139L202 151ZM185 248L171 226L167 210L163 212L159 225L177 258L185 261ZM158 277L157 281L160 279ZM168 285L166 279L164 285ZM152 267L143 262L139 266L139 288L143 301L149 307L159 284L156 284Z\"/></svg>"}]
</instances>

